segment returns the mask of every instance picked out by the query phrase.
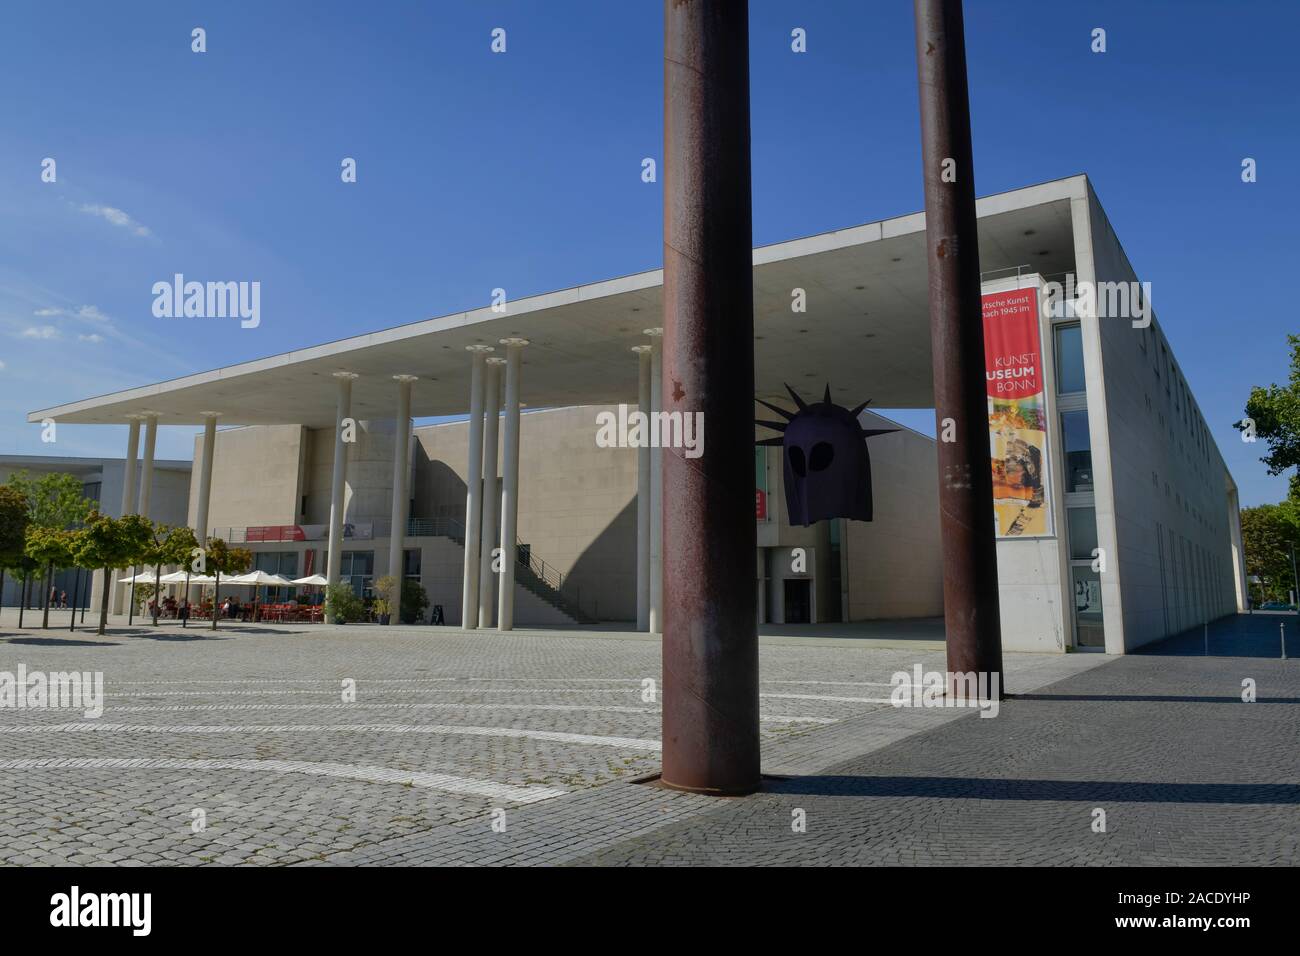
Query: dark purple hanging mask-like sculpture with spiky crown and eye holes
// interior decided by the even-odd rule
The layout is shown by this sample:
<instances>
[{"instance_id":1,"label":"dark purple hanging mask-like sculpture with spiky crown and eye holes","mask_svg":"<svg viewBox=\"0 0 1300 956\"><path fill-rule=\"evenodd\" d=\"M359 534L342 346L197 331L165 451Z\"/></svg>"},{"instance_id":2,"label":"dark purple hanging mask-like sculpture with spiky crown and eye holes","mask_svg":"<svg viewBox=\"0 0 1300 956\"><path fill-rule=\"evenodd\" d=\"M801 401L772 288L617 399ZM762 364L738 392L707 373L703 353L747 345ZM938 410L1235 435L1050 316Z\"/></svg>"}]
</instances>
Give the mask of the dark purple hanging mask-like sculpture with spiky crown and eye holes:
<instances>
[{"instance_id":1,"label":"dark purple hanging mask-like sculpture with spiky crown and eye holes","mask_svg":"<svg viewBox=\"0 0 1300 956\"><path fill-rule=\"evenodd\" d=\"M807 527L823 518L852 518L871 520L871 455L866 440L875 434L897 432L897 428L863 428L858 415L867 399L853 411L831 401L831 386L826 397L809 405L789 385L797 412L788 412L763 399L758 403L781 415L785 421L755 424L784 434L764 438L759 445L780 445L785 449L785 510L790 524Z\"/></svg>"}]
</instances>

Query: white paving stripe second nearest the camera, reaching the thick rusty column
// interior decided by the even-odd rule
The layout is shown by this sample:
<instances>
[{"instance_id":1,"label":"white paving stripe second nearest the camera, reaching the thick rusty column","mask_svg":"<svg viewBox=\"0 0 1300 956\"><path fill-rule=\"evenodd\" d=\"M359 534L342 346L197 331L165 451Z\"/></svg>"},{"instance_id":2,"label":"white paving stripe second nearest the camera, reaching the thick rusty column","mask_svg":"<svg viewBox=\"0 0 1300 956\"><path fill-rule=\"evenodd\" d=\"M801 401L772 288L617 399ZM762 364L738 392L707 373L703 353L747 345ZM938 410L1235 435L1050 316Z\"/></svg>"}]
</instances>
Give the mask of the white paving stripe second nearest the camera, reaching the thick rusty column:
<instances>
[{"instance_id":1,"label":"white paving stripe second nearest the camera, reaching the thick rusty column","mask_svg":"<svg viewBox=\"0 0 1300 956\"><path fill-rule=\"evenodd\" d=\"M166 724L148 723L51 723L47 726L0 726L0 734L439 734L469 737L514 737L547 740L555 744L592 744L625 750L660 749L658 740L640 737L607 737L592 734L560 734L550 730L515 730L512 727L462 727L458 724L410 723L277 723L277 724Z\"/></svg>"}]
</instances>

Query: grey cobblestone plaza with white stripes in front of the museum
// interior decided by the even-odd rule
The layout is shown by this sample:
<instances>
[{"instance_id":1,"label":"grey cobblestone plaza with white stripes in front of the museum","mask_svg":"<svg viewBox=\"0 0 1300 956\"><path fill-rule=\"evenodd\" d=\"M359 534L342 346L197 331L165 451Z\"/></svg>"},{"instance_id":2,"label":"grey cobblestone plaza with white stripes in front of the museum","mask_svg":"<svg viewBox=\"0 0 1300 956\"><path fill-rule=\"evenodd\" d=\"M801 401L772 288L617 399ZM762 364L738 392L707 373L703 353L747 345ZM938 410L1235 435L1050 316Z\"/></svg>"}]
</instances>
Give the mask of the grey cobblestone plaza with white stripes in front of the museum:
<instances>
[{"instance_id":1,"label":"grey cobblestone plaza with white stripes in front of the museum","mask_svg":"<svg viewBox=\"0 0 1300 956\"><path fill-rule=\"evenodd\" d=\"M939 643L767 636L767 786L716 800L647 782L662 675L640 633L121 620L100 639L12 617L0 671L101 671L105 704L0 710L5 865L1297 857L1300 672L1275 657L1009 654L1013 697L982 719L889 704L896 671L944 667ZM1228 619L1210 650L1265 632Z\"/></svg>"}]
</instances>

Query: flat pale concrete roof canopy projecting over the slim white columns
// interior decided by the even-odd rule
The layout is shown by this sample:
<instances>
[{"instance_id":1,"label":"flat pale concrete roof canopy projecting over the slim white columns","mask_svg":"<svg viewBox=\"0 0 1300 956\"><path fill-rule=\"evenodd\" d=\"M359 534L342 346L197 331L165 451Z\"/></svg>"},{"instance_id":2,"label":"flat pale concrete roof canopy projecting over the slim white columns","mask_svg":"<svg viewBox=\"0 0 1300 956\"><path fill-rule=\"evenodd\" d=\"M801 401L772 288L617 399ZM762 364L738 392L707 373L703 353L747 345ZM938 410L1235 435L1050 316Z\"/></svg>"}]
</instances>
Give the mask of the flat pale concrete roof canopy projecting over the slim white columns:
<instances>
[{"instance_id":1,"label":"flat pale concrete roof canopy projecting over the slim white columns","mask_svg":"<svg viewBox=\"0 0 1300 956\"><path fill-rule=\"evenodd\" d=\"M1074 176L978 200L980 268L1028 267L1057 274L1074 268L1070 199L1087 195ZM932 407L924 213L900 216L754 250L757 393L805 395L831 384L844 405ZM156 385L34 411L29 421L122 424L156 414L165 425L198 425L217 411L222 424L303 424L332 428L334 372L356 372L352 415L394 415L391 376L420 376L415 418L468 412L467 345L530 341L523 352L524 398L533 408L637 401L642 329L662 324L663 271L642 272L428 319L338 342L244 362ZM792 312L792 291L807 311ZM174 319L168 321L207 321ZM499 349L499 346L498 346ZM502 350L503 351L503 350Z\"/></svg>"}]
</instances>

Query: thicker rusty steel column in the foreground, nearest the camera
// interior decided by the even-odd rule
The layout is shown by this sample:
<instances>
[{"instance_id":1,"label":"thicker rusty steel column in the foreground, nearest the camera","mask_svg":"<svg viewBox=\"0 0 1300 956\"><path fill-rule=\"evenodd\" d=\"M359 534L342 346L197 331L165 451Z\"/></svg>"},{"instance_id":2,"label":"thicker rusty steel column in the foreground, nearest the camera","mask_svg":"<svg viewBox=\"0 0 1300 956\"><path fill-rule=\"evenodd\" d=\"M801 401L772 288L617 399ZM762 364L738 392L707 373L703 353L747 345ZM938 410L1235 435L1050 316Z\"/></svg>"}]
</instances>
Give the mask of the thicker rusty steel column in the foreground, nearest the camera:
<instances>
[{"instance_id":1,"label":"thicker rusty steel column in the foreground, nearest the camera","mask_svg":"<svg viewBox=\"0 0 1300 956\"><path fill-rule=\"evenodd\" d=\"M663 783L751 793L759 750L748 1L664 0L663 74L663 410L703 420L698 449L662 451Z\"/></svg>"}]
</instances>

